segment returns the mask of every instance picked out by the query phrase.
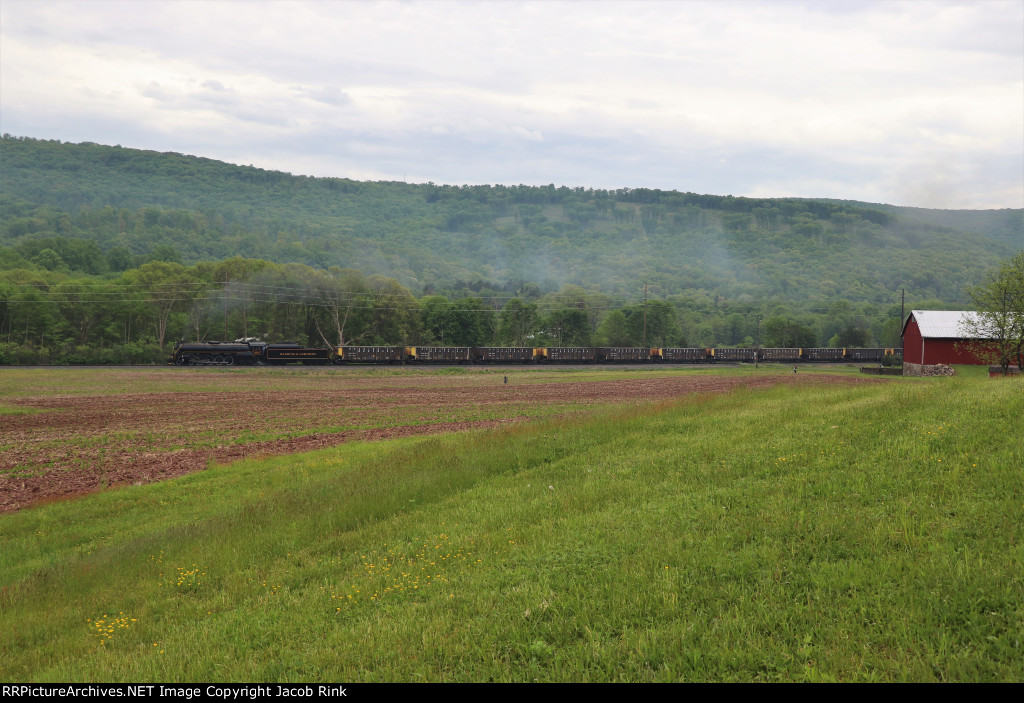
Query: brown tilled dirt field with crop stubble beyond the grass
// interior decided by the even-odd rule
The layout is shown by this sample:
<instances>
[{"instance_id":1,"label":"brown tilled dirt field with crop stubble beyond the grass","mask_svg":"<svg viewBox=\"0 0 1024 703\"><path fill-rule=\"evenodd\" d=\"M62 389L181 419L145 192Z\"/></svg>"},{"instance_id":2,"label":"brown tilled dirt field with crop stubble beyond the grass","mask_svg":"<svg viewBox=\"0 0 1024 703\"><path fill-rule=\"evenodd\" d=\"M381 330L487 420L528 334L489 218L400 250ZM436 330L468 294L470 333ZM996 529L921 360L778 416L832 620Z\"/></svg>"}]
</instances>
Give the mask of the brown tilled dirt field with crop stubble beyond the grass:
<instances>
[{"instance_id":1,"label":"brown tilled dirt field with crop stubble beyond the grass","mask_svg":"<svg viewBox=\"0 0 1024 703\"><path fill-rule=\"evenodd\" d=\"M492 377L499 378L499 377ZM305 380L307 382L308 379ZM23 397L0 414L0 513L180 476L247 456L352 440L493 428L596 405L777 383L878 383L834 375L679 375L482 385L479 377L385 377L289 389ZM305 382L303 385L305 385ZM325 388L328 386L336 388Z\"/></svg>"}]
</instances>

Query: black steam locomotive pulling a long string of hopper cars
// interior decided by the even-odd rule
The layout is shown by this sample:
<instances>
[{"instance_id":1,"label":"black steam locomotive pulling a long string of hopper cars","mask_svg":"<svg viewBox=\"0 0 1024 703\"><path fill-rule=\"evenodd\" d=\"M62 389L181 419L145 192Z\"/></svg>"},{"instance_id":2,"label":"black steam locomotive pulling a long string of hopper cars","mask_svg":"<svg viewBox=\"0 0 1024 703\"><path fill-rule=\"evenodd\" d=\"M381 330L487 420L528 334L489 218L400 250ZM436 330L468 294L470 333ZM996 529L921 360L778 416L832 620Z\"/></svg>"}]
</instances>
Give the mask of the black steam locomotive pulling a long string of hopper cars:
<instances>
[{"instance_id":1,"label":"black steam locomotive pulling a long string of hopper cars","mask_svg":"<svg viewBox=\"0 0 1024 703\"><path fill-rule=\"evenodd\" d=\"M294 343L179 342L169 363L179 366L302 364L486 363L881 363L899 348L690 347L303 347Z\"/></svg>"}]
</instances>

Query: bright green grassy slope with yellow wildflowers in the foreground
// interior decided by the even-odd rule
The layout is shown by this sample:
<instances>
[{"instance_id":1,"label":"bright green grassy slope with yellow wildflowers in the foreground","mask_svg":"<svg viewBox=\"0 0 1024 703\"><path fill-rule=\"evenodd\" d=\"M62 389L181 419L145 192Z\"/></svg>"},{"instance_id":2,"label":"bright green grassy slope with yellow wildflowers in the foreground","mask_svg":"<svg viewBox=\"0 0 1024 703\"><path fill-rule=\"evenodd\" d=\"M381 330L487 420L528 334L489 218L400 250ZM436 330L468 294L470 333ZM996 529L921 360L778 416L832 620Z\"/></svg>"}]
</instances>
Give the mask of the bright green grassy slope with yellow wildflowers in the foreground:
<instances>
[{"instance_id":1,"label":"bright green grassy slope with yellow wildflowers in the foreground","mask_svg":"<svg viewBox=\"0 0 1024 703\"><path fill-rule=\"evenodd\" d=\"M1021 680L1022 415L777 386L0 515L0 679Z\"/></svg>"}]
</instances>

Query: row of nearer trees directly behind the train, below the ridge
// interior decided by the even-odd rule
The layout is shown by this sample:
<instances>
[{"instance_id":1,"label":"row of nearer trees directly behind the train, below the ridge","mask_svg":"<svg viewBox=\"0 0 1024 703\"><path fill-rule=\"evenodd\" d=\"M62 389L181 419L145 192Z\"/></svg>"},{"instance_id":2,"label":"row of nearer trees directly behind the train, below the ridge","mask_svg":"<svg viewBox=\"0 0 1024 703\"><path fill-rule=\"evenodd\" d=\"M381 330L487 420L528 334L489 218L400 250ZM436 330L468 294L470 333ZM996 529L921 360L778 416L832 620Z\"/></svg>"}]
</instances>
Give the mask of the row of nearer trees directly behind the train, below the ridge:
<instances>
[{"instance_id":1,"label":"row of nearer trees directly behind the train, below the ridge","mask_svg":"<svg viewBox=\"0 0 1024 703\"><path fill-rule=\"evenodd\" d=\"M45 250L44 250L45 251ZM415 296L396 279L233 257L120 273L0 271L0 363L162 363L178 340L307 346L898 346L898 306L763 307L467 284Z\"/></svg>"}]
</instances>

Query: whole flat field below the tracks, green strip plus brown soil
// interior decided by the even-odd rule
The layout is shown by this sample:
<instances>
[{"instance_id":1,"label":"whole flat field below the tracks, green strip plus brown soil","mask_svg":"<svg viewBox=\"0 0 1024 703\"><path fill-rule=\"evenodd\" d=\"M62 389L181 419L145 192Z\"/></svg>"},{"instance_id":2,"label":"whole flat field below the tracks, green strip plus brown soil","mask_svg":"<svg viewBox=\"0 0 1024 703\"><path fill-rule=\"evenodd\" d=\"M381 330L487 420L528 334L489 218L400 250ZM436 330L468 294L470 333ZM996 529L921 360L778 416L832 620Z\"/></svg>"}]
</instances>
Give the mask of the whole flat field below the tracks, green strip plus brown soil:
<instances>
[{"instance_id":1,"label":"whole flat field below the tracks, green strip plus brown soil","mask_svg":"<svg viewBox=\"0 0 1024 703\"><path fill-rule=\"evenodd\" d=\"M784 369L0 369L0 513L295 454L802 383ZM829 372L833 383L859 382Z\"/></svg>"}]
</instances>

